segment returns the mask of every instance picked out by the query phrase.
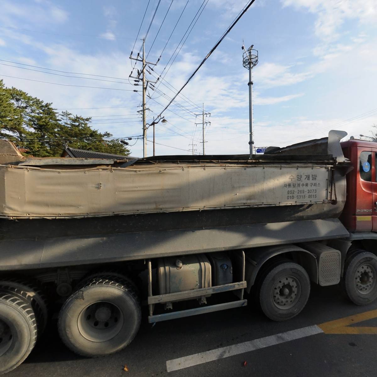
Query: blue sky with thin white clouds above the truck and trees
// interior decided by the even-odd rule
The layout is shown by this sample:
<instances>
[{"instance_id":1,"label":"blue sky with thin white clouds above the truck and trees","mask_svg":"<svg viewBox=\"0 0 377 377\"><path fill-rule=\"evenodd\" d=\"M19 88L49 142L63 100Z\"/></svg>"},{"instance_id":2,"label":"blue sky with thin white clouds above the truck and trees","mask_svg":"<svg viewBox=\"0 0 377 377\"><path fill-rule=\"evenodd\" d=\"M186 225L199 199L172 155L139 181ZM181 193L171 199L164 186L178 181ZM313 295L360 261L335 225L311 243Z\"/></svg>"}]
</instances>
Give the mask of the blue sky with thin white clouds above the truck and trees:
<instances>
[{"instance_id":1,"label":"blue sky with thin white clouds above the truck and trees","mask_svg":"<svg viewBox=\"0 0 377 377\"><path fill-rule=\"evenodd\" d=\"M150 81L159 77L147 90L151 123L247 3L0 0L0 78L57 111L92 116L101 132L132 137L131 154L142 156L141 85L129 78L141 63L130 60L131 51L136 57L146 36L147 61L155 64L161 56L146 74ZM254 44L259 56L253 68L255 147L321 138L331 129L371 135L377 124L376 19L377 0L256 0L162 114L167 123L156 125L156 155L202 153L202 124L195 123L202 121L203 104L210 113L205 153L248 153L242 43ZM152 127L147 139L152 155Z\"/></svg>"}]
</instances>

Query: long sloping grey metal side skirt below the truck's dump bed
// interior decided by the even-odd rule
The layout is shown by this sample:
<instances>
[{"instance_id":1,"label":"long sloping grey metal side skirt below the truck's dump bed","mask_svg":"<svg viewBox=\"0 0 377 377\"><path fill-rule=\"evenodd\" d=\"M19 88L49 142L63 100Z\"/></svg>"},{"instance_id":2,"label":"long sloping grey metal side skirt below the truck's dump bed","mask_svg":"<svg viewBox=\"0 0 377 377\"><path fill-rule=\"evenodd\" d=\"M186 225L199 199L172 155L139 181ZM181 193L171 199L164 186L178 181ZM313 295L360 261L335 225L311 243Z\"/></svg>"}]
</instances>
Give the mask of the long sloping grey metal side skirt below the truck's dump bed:
<instances>
[{"instance_id":1,"label":"long sloping grey metal side skirt below the truck's dump bed","mask_svg":"<svg viewBox=\"0 0 377 377\"><path fill-rule=\"evenodd\" d=\"M338 219L321 219L107 236L2 240L0 271L131 261L348 236Z\"/></svg>"}]
</instances>

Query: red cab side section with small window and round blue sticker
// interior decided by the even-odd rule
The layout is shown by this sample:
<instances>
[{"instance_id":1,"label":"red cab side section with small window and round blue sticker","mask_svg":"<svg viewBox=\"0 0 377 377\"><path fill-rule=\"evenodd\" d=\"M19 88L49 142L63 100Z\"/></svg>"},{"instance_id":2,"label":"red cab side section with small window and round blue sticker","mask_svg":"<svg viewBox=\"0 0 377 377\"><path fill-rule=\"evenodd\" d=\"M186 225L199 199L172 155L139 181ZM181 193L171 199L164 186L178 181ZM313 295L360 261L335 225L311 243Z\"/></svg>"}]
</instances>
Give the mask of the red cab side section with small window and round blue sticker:
<instances>
[{"instance_id":1,"label":"red cab side section with small window and round blue sticker","mask_svg":"<svg viewBox=\"0 0 377 377\"><path fill-rule=\"evenodd\" d=\"M375 152L359 147L357 154L359 155L359 164L356 178L356 231L370 232L373 227L374 213L377 216L377 210L373 209L373 203L377 201ZM377 229L377 218L375 221L375 229Z\"/></svg>"}]
</instances>

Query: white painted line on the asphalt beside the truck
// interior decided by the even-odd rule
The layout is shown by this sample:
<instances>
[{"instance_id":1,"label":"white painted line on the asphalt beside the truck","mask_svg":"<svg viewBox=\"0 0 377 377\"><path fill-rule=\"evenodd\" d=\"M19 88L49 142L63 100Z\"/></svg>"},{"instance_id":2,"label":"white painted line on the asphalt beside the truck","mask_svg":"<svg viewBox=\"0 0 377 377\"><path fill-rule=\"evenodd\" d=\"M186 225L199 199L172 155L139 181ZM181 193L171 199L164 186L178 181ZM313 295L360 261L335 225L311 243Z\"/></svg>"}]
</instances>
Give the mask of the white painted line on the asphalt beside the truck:
<instances>
[{"instance_id":1,"label":"white painted line on the asphalt beside the truck","mask_svg":"<svg viewBox=\"0 0 377 377\"><path fill-rule=\"evenodd\" d=\"M166 362L166 369L168 372L172 372L178 369L188 368L190 366L207 363L213 360L224 359L224 357L254 351L256 349L273 346L279 343L290 342L291 340L320 333L323 333L323 330L317 325L303 327L300 329L287 331L286 333L266 336L264 338L250 340L249 342L238 343L228 347L212 349L211 351L180 357L179 359L168 360Z\"/></svg>"}]
</instances>

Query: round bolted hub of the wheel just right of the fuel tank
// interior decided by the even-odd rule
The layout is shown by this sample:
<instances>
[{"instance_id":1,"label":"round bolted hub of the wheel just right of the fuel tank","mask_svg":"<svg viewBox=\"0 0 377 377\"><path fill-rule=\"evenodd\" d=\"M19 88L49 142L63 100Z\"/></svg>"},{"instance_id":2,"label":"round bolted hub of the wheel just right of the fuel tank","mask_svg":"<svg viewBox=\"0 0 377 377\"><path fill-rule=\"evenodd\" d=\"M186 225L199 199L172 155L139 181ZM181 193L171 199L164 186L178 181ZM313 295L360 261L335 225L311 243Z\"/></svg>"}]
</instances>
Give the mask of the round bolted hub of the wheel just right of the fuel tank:
<instances>
[{"instance_id":1,"label":"round bolted hub of the wheel just right of the fuel tank","mask_svg":"<svg viewBox=\"0 0 377 377\"><path fill-rule=\"evenodd\" d=\"M284 276L274 285L272 299L277 308L287 310L296 305L300 294L299 280L294 276Z\"/></svg>"}]
</instances>

